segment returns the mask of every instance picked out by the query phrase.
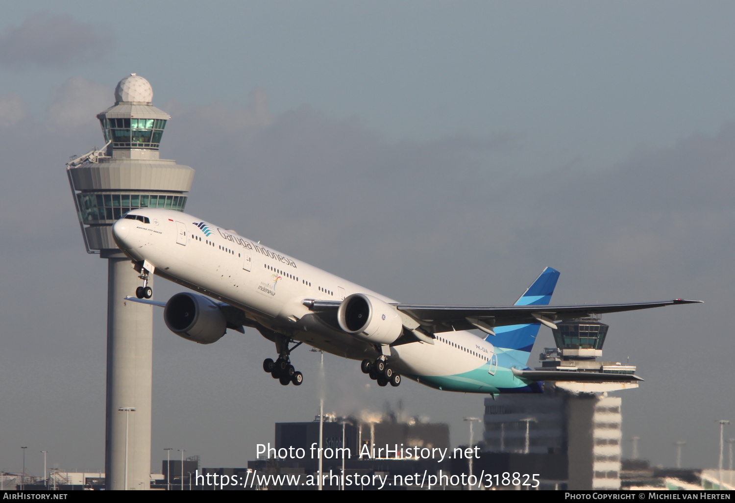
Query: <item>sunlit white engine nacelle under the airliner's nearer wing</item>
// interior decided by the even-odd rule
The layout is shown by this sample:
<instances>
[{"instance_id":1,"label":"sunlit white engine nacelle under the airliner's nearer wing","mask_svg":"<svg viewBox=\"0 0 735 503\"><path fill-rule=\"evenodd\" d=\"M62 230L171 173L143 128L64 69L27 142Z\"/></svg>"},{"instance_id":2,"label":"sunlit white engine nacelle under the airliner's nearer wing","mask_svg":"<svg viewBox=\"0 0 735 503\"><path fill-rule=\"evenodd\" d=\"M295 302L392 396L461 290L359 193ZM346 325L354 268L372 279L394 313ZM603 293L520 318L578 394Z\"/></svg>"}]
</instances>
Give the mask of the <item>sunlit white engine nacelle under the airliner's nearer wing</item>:
<instances>
[{"instance_id":1,"label":"sunlit white engine nacelle under the airliner's nearer wing","mask_svg":"<svg viewBox=\"0 0 735 503\"><path fill-rule=\"evenodd\" d=\"M347 296L337 311L337 320L345 332L370 343L390 344L404 332L395 307L365 293Z\"/></svg>"}]
</instances>

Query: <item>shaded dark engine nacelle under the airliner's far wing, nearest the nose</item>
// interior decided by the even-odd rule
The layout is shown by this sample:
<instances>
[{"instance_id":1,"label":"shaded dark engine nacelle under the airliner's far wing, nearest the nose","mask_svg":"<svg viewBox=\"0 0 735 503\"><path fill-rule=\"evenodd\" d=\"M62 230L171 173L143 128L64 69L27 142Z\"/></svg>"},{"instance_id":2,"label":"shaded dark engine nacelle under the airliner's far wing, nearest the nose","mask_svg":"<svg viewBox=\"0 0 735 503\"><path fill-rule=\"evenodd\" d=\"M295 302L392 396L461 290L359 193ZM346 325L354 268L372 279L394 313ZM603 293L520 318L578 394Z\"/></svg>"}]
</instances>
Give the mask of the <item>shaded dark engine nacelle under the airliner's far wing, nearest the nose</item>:
<instances>
[{"instance_id":1,"label":"shaded dark engine nacelle under the airliner's far wing, nearest the nose","mask_svg":"<svg viewBox=\"0 0 735 503\"><path fill-rule=\"evenodd\" d=\"M227 329L218 304L196 293L176 293L168 299L163 319L171 332L200 344L217 342Z\"/></svg>"}]
</instances>

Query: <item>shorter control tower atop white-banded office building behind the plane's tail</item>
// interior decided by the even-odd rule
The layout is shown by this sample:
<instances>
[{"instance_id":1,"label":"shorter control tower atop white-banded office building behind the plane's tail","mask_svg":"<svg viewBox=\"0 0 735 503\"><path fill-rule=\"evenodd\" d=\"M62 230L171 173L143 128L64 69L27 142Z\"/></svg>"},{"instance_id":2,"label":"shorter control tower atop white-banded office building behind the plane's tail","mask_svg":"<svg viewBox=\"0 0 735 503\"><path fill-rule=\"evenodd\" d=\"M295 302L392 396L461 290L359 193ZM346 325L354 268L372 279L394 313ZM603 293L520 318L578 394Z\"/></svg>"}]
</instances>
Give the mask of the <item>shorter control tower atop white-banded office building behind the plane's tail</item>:
<instances>
[{"instance_id":1,"label":"shorter control tower atop white-banded office building behind the plane's tail","mask_svg":"<svg viewBox=\"0 0 735 503\"><path fill-rule=\"evenodd\" d=\"M544 393L485 399L484 449L495 454L483 468L523 473L533 463L542 489L620 489L623 400L608 392L642 379L634 366L598 360L608 329L599 317L556 323L556 348L545 348L536 368L548 380Z\"/></svg>"}]
</instances>

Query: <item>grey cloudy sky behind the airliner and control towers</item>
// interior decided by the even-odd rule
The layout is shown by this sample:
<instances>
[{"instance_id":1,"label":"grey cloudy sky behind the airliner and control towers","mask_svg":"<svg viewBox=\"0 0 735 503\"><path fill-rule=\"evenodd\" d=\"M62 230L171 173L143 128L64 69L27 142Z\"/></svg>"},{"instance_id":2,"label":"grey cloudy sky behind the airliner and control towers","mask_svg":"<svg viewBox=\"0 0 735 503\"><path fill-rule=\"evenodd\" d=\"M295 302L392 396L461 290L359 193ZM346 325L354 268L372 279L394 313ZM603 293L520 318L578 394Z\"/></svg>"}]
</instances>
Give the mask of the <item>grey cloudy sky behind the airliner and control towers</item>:
<instances>
[{"instance_id":1,"label":"grey cloudy sky behind the airliner and control towers","mask_svg":"<svg viewBox=\"0 0 735 503\"><path fill-rule=\"evenodd\" d=\"M63 164L103 143L94 115L131 72L173 115L162 156L196 169L189 213L395 299L507 304L551 265L559 303L706 301L603 321L606 359L629 356L646 379L621 393L625 437L667 465L687 440L685 464L714 466L714 420L735 420L734 10L0 5L1 47L39 19L107 44L87 53L51 30L55 41L0 58L14 62L0 72L0 468L19 469L21 445L38 474L41 450L70 470L104 463L105 264L84 253ZM177 290L157 280L157 298ZM154 336L154 468L164 447L245 465L274 421L315 413L316 354L295 354L306 382L283 388L262 372L273 345L255 332L203 347L158 315ZM543 329L534 353L552 343ZM326 365L340 413L403 399L451 422L454 443L462 416L481 414L482 396L366 388L356 362Z\"/></svg>"}]
</instances>

